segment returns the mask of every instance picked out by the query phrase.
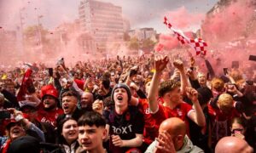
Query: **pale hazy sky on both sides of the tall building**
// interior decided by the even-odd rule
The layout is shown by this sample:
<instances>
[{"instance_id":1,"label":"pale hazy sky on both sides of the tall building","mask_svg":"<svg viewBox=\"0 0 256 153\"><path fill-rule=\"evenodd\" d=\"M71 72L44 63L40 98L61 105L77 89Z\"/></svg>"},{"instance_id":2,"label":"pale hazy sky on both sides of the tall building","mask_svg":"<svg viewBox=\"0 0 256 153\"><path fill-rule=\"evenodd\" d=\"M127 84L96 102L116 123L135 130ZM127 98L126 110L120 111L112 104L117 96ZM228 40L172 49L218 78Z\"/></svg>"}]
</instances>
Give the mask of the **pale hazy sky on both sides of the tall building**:
<instances>
[{"instance_id":1,"label":"pale hazy sky on both sides of the tall building","mask_svg":"<svg viewBox=\"0 0 256 153\"><path fill-rule=\"evenodd\" d=\"M123 16L130 20L131 29L153 27L157 32L166 32L162 24L166 15L181 29L195 31L200 27L204 14L218 0L99 0L121 6ZM39 22L49 30L63 22L79 19L80 0L0 0L0 27L15 30ZM180 25L180 22L185 22ZM180 27L183 26L183 27Z\"/></svg>"}]
</instances>

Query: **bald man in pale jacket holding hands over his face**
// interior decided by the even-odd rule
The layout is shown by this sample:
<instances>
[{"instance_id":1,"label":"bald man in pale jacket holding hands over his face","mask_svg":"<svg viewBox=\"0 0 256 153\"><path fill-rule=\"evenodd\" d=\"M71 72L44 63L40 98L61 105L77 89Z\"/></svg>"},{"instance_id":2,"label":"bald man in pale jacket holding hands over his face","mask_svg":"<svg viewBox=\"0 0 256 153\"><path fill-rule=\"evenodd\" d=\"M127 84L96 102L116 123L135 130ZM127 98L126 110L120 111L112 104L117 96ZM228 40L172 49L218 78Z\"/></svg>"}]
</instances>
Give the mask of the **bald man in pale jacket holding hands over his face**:
<instances>
[{"instance_id":1,"label":"bald man in pale jacket holding hands over his face","mask_svg":"<svg viewBox=\"0 0 256 153\"><path fill-rule=\"evenodd\" d=\"M204 152L193 145L186 135L186 124L177 117L166 119L160 124L159 137L148 146L146 153L199 153Z\"/></svg>"}]
</instances>

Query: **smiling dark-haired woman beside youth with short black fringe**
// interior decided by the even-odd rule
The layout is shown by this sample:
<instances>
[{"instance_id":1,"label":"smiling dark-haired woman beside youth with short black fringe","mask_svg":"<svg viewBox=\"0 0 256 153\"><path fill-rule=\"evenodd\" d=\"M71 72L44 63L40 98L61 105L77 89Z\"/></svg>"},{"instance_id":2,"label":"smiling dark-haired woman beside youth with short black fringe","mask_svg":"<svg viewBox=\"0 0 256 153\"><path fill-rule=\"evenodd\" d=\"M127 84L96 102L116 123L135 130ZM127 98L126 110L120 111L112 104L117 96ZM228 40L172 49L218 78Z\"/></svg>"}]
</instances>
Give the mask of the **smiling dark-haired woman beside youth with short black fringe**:
<instances>
[{"instance_id":1,"label":"smiling dark-haired woman beside youth with short black fringe","mask_svg":"<svg viewBox=\"0 0 256 153\"><path fill-rule=\"evenodd\" d=\"M64 118L57 125L57 142L61 147L53 152L74 153L79 147L78 138L78 122L71 117Z\"/></svg>"}]
</instances>

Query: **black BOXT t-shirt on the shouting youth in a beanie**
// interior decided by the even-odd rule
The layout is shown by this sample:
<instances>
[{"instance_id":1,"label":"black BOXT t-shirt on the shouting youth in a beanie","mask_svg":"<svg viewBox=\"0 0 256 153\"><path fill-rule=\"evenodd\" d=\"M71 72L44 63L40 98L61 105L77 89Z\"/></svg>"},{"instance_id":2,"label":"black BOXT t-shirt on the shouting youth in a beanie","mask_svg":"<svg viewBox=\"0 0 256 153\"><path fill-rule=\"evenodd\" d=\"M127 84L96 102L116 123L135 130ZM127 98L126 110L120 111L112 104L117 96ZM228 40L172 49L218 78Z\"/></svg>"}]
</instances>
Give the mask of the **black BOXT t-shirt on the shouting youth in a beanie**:
<instances>
[{"instance_id":1,"label":"black BOXT t-shirt on the shouting youth in a beanie","mask_svg":"<svg viewBox=\"0 0 256 153\"><path fill-rule=\"evenodd\" d=\"M136 137L136 133L143 134L144 119L143 114L135 106L128 106L128 110L122 115L118 115L114 108L104 111L103 116L109 125L109 150L111 152L125 152L129 148L115 147L112 143L111 135L119 135L120 139L129 140Z\"/></svg>"}]
</instances>

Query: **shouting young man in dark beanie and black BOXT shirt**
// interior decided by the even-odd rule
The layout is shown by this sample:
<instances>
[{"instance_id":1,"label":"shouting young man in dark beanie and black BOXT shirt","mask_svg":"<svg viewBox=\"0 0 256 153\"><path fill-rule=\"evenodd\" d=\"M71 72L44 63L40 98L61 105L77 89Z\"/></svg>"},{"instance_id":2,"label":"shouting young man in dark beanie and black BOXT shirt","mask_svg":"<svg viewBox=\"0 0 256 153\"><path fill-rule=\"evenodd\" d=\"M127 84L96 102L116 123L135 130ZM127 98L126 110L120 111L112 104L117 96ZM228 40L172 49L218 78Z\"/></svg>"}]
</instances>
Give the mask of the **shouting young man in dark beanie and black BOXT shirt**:
<instances>
[{"instance_id":1,"label":"shouting young man in dark beanie and black BOXT shirt","mask_svg":"<svg viewBox=\"0 0 256 153\"><path fill-rule=\"evenodd\" d=\"M113 153L137 150L143 144L143 114L131 106L131 90L122 83L115 85L111 99L114 107L104 111L110 135L109 150Z\"/></svg>"}]
</instances>

